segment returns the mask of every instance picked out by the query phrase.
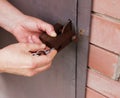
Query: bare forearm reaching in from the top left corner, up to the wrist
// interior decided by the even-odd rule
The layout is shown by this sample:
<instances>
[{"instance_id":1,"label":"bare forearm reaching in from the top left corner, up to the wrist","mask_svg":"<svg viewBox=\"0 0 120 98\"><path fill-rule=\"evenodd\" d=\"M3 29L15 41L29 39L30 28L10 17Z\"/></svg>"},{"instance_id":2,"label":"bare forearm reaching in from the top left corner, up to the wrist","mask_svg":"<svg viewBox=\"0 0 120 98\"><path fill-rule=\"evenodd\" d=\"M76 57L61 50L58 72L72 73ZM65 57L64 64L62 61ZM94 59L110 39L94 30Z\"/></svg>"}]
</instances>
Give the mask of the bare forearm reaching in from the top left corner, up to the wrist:
<instances>
[{"instance_id":1,"label":"bare forearm reaching in from the top left corner, up to the wrist","mask_svg":"<svg viewBox=\"0 0 120 98\"><path fill-rule=\"evenodd\" d=\"M15 28L24 14L12 6L7 0L0 0L0 26L9 32Z\"/></svg>"}]
</instances>

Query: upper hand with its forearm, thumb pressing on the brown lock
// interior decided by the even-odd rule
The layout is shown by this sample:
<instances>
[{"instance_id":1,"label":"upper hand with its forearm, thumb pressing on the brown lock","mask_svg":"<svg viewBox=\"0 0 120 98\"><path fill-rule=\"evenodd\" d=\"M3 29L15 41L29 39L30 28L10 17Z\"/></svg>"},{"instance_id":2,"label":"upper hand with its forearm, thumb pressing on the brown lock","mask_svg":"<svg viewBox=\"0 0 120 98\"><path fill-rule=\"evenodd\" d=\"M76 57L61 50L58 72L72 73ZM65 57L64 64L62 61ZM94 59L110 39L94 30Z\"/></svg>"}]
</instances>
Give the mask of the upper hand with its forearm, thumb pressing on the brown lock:
<instances>
[{"instance_id":1,"label":"upper hand with its forearm, thumb pressing on the brown lock","mask_svg":"<svg viewBox=\"0 0 120 98\"><path fill-rule=\"evenodd\" d=\"M7 0L0 0L0 26L12 33L19 42L41 43L39 40L41 32L56 36L51 24L24 15Z\"/></svg>"}]
</instances>

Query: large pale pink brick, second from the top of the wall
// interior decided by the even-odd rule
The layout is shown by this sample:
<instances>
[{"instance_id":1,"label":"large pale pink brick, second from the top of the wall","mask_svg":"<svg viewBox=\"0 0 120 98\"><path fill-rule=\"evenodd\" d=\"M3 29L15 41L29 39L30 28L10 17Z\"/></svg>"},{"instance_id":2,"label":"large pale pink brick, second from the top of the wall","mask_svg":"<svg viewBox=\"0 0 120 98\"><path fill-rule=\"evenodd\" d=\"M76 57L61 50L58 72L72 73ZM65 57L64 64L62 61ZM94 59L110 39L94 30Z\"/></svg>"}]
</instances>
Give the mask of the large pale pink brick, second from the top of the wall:
<instances>
[{"instance_id":1,"label":"large pale pink brick, second from the top of the wall","mask_svg":"<svg viewBox=\"0 0 120 98\"><path fill-rule=\"evenodd\" d=\"M93 15L90 42L120 53L120 22Z\"/></svg>"}]
</instances>

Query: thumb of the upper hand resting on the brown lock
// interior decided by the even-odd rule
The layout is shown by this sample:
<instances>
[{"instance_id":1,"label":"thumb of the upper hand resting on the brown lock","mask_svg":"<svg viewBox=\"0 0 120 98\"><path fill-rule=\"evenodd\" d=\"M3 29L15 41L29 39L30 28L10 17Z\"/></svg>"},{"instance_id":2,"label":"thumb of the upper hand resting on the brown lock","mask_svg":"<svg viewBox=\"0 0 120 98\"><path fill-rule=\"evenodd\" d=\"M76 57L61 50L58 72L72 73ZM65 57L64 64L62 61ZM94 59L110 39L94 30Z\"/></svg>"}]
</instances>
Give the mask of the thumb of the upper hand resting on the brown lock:
<instances>
[{"instance_id":1,"label":"thumb of the upper hand resting on the brown lock","mask_svg":"<svg viewBox=\"0 0 120 98\"><path fill-rule=\"evenodd\" d=\"M48 24L46 22L42 22L39 27L42 31L45 31L48 35L52 37L56 37L57 34L54 30L54 27L51 24Z\"/></svg>"}]
</instances>

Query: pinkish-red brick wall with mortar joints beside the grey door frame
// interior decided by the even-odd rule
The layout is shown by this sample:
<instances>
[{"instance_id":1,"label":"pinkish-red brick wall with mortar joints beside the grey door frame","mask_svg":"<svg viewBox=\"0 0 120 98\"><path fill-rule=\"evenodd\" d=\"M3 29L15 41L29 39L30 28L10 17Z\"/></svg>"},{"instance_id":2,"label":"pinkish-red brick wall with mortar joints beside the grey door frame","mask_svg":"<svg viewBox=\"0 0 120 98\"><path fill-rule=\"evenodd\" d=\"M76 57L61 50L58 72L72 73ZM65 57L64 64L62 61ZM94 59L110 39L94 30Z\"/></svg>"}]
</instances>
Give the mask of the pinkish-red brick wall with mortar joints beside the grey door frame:
<instances>
[{"instance_id":1,"label":"pinkish-red brick wall with mortar joints beside the grey door frame","mask_svg":"<svg viewBox=\"0 0 120 98\"><path fill-rule=\"evenodd\" d=\"M120 98L120 0L93 0L86 98Z\"/></svg>"}]
</instances>

